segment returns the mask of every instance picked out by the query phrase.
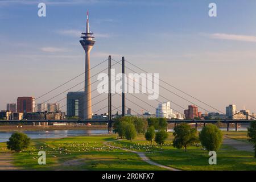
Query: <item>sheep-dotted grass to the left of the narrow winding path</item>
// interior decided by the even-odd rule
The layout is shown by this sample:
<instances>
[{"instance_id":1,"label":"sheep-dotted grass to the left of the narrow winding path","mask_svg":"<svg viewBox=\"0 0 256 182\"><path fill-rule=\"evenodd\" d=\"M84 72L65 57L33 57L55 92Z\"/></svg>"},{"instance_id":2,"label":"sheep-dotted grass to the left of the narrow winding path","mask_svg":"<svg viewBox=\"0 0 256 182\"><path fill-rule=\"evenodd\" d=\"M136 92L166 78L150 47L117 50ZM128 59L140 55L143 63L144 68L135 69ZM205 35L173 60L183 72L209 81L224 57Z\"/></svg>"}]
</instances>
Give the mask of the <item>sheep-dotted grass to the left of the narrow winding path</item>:
<instances>
[{"instance_id":1,"label":"sheep-dotted grass to the left of the narrow winding path","mask_svg":"<svg viewBox=\"0 0 256 182\"><path fill-rule=\"evenodd\" d=\"M137 154L107 147L115 136L32 140L30 147L14 153L14 164L26 170L162 170L143 162ZM7 152L1 143L1 152ZM45 151L47 165L38 164L38 151Z\"/></svg>"}]
</instances>

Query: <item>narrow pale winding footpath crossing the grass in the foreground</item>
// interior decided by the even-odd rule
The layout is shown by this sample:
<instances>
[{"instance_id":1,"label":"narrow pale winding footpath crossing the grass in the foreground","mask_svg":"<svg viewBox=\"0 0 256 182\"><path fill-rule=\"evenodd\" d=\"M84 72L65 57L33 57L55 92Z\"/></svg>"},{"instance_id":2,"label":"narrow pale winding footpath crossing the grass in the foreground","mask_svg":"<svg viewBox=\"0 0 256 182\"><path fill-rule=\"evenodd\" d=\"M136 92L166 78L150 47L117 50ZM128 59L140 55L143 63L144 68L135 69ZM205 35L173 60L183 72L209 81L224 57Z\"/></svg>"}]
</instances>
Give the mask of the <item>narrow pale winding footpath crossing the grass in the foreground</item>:
<instances>
[{"instance_id":1,"label":"narrow pale winding footpath crossing the grass in the foreground","mask_svg":"<svg viewBox=\"0 0 256 182\"><path fill-rule=\"evenodd\" d=\"M158 164L158 163L155 163L155 162L152 162L152 160L150 160L144 152L137 152L137 151L133 151L133 150L128 150L127 148L121 148L121 147L117 147L117 146L112 146L111 144L109 144L108 142L104 142L104 144L106 146L109 146L109 147L113 147L113 148L118 148L118 149L121 149L121 150L124 150L124 151L128 151L128 152L133 152L135 154L138 154L139 157L146 163L148 164L151 164L151 165L154 165L154 166L158 166L158 167L161 167L161 168L165 168L165 169L168 169L170 171L180 171L179 169L175 169L175 168L172 168L172 167L168 167L168 166L164 166L162 164Z\"/></svg>"}]
</instances>

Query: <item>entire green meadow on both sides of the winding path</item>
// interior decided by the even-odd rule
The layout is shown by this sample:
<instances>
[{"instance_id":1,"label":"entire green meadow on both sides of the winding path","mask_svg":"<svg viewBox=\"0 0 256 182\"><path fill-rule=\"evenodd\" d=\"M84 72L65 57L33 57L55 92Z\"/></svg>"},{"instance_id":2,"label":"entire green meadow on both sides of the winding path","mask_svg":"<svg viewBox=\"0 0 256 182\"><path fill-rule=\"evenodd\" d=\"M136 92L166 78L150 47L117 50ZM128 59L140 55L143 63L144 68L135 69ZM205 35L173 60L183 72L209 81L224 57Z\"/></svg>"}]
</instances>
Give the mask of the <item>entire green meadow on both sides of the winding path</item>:
<instances>
[{"instance_id":1,"label":"entire green meadow on both sides of the winding path","mask_svg":"<svg viewBox=\"0 0 256 182\"><path fill-rule=\"evenodd\" d=\"M245 139L246 132L229 132L229 138ZM14 164L26 170L163 170L144 162L137 154L109 147L104 142L133 151L144 152L156 163L182 170L255 170L254 152L238 151L222 145L217 152L217 165L209 165L208 152L201 146L188 147L188 151L172 147L170 133L163 149L144 140L143 135L130 142L116 140L116 135L72 137L32 140L30 147L15 153ZM46 151L47 165L38 164L38 151ZM0 153L10 152L6 143L0 143Z\"/></svg>"}]
</instances>

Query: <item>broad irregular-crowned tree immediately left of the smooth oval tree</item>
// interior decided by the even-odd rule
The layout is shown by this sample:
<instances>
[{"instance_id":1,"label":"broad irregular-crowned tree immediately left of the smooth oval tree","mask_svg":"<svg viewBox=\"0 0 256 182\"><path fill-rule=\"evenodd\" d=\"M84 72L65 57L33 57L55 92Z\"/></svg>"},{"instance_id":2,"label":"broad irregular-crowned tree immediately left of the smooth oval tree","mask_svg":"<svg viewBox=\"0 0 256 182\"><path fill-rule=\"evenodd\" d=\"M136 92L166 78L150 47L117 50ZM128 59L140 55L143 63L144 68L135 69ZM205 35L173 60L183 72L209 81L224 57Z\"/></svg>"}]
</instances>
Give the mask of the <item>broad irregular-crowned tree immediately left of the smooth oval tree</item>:
<instances>
[{"instance_id":1,"label":"broad irregular-crowned tree immediately left of the smooth oval tree","mask_svg":"<svg viewBox=\"0 0 256 182\"><path fill-rule=\"evenodd\" d=\"M196 129L192 129L187 123L181 123L174 128L174 147L175 148L185 148L190 144L193 144L197 141Z\"/></svg>"}]
</instances>

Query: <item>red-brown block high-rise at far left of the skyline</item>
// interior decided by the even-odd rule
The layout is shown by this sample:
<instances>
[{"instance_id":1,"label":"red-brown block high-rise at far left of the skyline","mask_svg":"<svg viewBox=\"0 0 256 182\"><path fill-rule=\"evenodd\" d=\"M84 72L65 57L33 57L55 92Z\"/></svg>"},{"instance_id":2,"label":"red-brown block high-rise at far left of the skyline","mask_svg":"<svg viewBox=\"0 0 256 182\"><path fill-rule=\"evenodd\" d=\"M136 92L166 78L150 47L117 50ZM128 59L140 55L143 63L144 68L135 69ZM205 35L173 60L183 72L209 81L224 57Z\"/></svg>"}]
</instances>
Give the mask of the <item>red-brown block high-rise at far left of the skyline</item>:
<instances>
[{"instance_id":1,"label":"red-brown block high-rise at far left of the skyline","mask_svg":"<svg viewBox=\"0 0 256 182\"><path fill-rule=\"evenodd\" d=\"M35 112L35 98L34 97L18 97L17 112L18 113Z\"/></svg>"}]
</instances>

